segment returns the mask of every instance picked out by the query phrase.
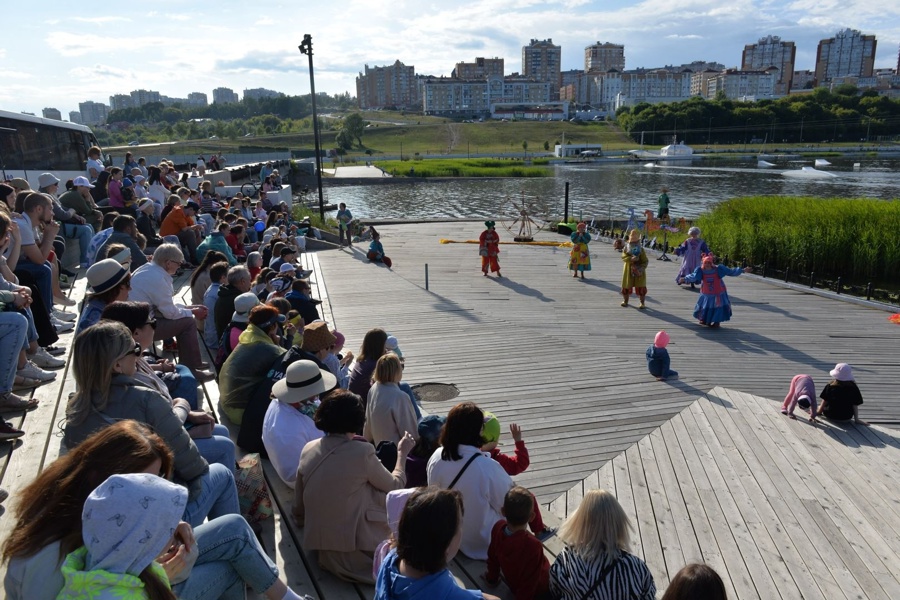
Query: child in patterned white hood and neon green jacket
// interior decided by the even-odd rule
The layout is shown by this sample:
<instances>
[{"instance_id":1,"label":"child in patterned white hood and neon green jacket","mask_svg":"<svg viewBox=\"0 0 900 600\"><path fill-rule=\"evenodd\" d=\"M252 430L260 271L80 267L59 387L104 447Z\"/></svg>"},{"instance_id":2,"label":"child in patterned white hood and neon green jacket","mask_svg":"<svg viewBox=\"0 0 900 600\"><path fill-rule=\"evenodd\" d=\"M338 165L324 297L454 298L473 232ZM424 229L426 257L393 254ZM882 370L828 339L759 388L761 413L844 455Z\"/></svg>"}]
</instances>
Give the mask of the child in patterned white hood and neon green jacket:
<instances>
[{"instance_id":1,"label":"child in patterned white hood and neon green jacket","mask_svg":"<svg viewBox=\"0 0 900 600\"><path fill-rule=\"evenodd\" d=\"M187 489L158 475L111 475L84 502L84 546L66 556L57 600L168 600L169 578L156 562L181 545ZM163 562L165 562L163 560Z\"/></svg>"}]
</instances>

